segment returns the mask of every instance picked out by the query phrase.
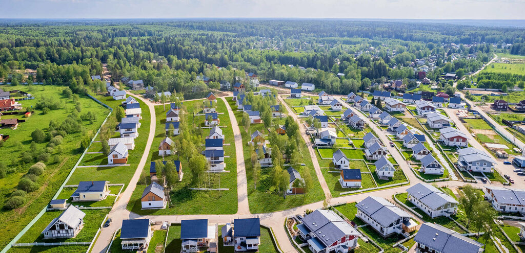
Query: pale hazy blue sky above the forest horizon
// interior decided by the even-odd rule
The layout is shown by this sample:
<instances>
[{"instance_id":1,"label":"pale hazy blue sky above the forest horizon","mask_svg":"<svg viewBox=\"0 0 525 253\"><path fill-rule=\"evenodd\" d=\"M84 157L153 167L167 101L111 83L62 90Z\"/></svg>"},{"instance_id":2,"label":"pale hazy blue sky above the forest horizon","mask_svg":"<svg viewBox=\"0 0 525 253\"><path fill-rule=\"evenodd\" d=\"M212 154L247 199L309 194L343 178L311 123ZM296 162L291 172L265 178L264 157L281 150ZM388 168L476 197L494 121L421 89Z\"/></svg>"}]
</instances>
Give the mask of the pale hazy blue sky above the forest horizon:
<instances>
[{"instance_id":1,"label":"pale hazy blue sky above the forest horizon","mask_svg":"<svg viewBox=\"0 0 525 253\"><path fill-rule=\"evenodd\" d=\"M525 19L525 0L0 0L0 18Z\"/></svg>"}]
</instances>

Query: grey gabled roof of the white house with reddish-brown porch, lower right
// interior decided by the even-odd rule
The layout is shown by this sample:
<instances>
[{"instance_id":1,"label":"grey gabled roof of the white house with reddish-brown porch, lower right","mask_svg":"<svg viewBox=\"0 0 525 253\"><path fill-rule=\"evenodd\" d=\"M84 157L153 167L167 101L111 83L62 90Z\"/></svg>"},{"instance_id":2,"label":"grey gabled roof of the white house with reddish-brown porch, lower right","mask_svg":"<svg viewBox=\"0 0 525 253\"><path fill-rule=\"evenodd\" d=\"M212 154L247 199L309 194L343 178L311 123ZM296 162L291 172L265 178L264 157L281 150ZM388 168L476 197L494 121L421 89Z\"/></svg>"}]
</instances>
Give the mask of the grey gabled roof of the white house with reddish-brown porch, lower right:
<instances>
[{"instance_id":1,"label":"grey gabled roof of the white house with reddish-brown porch, lower right","mask_svg":"<svg viewBox=\"0 0 525 253\"><path fill-rule=\"evenodd\" d=\"M361 212L370 216L384 227L390 227L392 223L402 217L412 218L412 215L406 213L382 197L368 196L366 199L355 204L355 206L358 207Z\"/></svg>"}]
</instances>

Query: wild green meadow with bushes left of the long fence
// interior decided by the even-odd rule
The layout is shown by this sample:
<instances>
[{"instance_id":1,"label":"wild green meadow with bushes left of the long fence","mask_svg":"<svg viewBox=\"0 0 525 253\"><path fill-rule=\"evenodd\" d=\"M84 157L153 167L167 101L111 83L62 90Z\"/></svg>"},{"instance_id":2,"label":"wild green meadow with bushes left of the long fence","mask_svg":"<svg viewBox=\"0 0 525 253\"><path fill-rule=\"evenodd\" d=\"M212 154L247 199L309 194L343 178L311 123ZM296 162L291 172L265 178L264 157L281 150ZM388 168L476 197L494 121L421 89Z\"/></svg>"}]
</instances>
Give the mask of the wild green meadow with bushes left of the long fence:
<instances>
[{"instance_id":1,"label":"wild green meadow with bushes left of the long fence","mask_svg":"<svg viewBox=\"0 0 525 253\"><path fill-rule=\"evenodd\" d=\"M49 113L43 114L39 109L36 109L33 115L26 119L26 122L20 123L17 129L2 129L2 134L9 135L10 138L5 142L4 146L0 148L0 157L2 163L8 168L8 173L5 178L0 179L0 199L4 200L0 203L0 222L3 226L0 228L0 234L3 236L3 240L0 242L0 246L3 248L7 245L9 240L12 240L16 234L20 232L28 223L33 219L38 212L42 210L48 203L49 200L56 194L60 185L64 182L71 169L75 166L75 163L80 158L81 153L84 151L80 148L80 138L83 134L75 133L64 136L62 144L55 147L55 150L51 153L51 157L46 163L47 169L44 174L39 176L38 183L41 185L40 189L28 193L26 199L28 200L25 205L15 210L7 210L2 208L9 194L16 190L16 185L19 179L27 172L30 164L23 164L20 161L22 153L31 150L31 132L35 129L42 129L45 134L48 133L49 122L61 123L64 118L75 110L75 103L70 98L66 98L62 95L61 86L51 85L32 85L33 90L29 91L28 86L10 86L0 85L0 89L5 91L20 90L29 92L35 97L34 100L23 100L17 101L22 104L24 110L26 107L33 106L35 108L36 103L41 101L41 98L48 97L53 101L60 101L64 107L60 109L50 110ZM93 135L96 133L100 124L106 118L109 113L109 109L103 107L97 102L91 100L91 98L82 95L78 102L81 105L80 115L92 112L96 115L96 121L93 124L88 121L82 121L81 125L86 128L86 133ZM23 119L23 115L3 115L3 119L7 118L18 118ZM47 142L36 144L37 149L44 149L47 146ZM59 157L60 162L53 162L54 157ZM31 162L34 163L36 161ZM43 250L46 250L43 248Z\"/></svg>"}]
</instances>

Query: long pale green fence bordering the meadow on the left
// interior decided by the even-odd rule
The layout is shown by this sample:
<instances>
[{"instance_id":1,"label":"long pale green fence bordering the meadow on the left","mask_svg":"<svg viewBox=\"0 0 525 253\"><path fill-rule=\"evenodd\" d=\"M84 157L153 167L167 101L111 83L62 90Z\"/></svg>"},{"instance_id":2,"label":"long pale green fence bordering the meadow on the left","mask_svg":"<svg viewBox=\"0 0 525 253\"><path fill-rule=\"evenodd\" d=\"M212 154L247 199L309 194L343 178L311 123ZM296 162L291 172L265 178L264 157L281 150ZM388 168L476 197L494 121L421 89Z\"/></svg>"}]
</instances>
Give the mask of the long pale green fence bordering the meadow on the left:
<instances>
[{"instance_id":1,"label":"long pale green fence bordering the meadow on the left","mask_svg":"<svg viewBox=\"0 0 525 253\"><path fill-rule=\"evenodd\" d=\"M66 182L69 181L69 179L71 178L71 175L75 172L75 170L77 169L78 167L78 164L80 164L80 161L82 161L82 159L84 158L84 156L86 155L86 152L88 151L89 147L91 147L91 144L93 144L93 141L95 141L95 139L97 138L98 134L100 133L100 129L102 128L102 125L104 125L109 116L111 115L111 113L113 112L113 109L111 107L109 107L108 105L102 103L101 101L99 101L97 98L91 96L91 95L87 95L89 96L92 100L95 100L95 102L99 103L100 105L106 107L106 108L109 108L110 109L110 112L108 113L108 116L106 116L106 119L104 119L104 121L102 122L102 124L100 125L99 129L97 130L97 133L95 134L95 136L93 136L93 138L91 139L91 142L89 142L89 146L84 150L84 152L82 152L82 155L80 156L80 158L78 159L77 163L75 163L75 166L73 167L73 169L71 169L71 171L69 172L69 174L67 175L66 179L64 180L64 183L62 183L62 185L60 185L60 188L58 189L57 193L53 196L53 198L51 198L52 200L56 199L58 197L58 195L60 194L60 192L62 191L62 189L64 189L64 186L66 185ZM22 231L20 231L20 233L18 233L18 235L15 236L15 238L13 238L13 240L11 240L7 246L5 246L2 251L0 251L0 253L6 253L7 250L9 250L15 243L18 239L20 239L20 237L22 237L26 232L27 230L29 230L29 228L31 228L31 226L33 226L40 217L42 217L42 215L44 215L44 213L47 211L47 206L42 208L42 210L35 216L35 218L33 218L29 224L27 224L27 226L24 227L24 229L22 229ZM88 243L89 244L89 243Z\"/></svg>"}]
</instances>

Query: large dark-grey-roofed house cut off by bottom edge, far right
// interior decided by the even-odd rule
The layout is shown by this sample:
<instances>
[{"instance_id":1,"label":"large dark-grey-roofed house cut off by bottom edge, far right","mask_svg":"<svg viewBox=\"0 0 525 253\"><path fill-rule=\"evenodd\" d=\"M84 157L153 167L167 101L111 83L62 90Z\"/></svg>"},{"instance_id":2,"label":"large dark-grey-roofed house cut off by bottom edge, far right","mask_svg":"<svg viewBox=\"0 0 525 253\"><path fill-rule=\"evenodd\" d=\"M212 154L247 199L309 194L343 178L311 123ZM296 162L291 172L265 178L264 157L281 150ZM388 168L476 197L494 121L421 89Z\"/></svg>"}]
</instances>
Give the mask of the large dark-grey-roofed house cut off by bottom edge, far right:
<instances>
[{"instance_id":1,"label":"large dark-grey-roofed house cut off by bottom edge, far right","mask_svg":"<svg viewBox=\"0 0 525 253\"><path fill-rule=\"evenodd\" d=\"M485 249L478 241L460 235L442 225L426 222L419 227L416 236L418 253L481 253Z\"/></svg>"}]
</instances>

